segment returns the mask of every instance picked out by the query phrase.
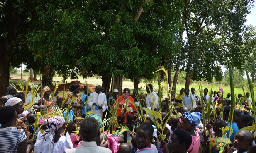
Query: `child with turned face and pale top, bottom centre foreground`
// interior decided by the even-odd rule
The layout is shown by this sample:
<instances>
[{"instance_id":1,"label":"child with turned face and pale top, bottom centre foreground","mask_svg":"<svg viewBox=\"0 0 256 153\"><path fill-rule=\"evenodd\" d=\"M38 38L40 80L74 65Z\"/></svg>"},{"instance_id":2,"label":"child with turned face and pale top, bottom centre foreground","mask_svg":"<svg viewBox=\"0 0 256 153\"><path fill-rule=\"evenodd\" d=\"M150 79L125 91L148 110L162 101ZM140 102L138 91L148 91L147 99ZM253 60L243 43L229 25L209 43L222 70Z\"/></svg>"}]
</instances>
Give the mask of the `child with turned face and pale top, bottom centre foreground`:
<instances>
[{"instance_id":1,"label":"child with turned face and pale top, bottom centre foreground","mask_svg":"<svg viewBox=\"0 0 256 153\"><path fill-rule=\"evenodd\" d=\"M157 153L157 148L151 144L154 128L149 123L142 123L136 134L137 153Z\"/></svg>"}]
</instances>

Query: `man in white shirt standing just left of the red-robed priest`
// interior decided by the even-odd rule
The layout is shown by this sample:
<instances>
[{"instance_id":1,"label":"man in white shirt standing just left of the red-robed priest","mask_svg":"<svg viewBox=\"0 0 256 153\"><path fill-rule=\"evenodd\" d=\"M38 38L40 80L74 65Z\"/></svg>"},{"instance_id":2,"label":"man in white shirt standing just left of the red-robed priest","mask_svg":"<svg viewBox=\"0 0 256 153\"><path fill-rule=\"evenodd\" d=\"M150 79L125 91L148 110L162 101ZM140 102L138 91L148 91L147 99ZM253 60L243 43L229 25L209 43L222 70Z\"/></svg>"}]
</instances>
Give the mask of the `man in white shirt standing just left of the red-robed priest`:
<instances>
[{"instance_id":1,"label":"man in white shirt standing just left of the red-robed priest","mask_svg":"<svg viewBox=\"0 0 256 153\"><path fill-rule=\"evenodd\" d=\"M100 85L96 86L95 92L90 95L88 106L90 106L91 111L95 112L103 120L103 112L107 108L107 99L105 93L101 92L101 88Z\"/></svg>"}]
</instances>

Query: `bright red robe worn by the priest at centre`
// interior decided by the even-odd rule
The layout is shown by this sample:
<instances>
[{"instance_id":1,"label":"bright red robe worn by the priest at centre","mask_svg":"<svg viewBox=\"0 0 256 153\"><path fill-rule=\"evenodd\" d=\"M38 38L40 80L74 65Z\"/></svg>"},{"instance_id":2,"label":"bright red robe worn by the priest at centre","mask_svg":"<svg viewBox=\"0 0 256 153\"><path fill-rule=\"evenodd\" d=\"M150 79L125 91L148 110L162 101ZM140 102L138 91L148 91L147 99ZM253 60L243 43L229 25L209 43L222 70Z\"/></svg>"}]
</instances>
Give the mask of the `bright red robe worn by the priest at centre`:
<instances>
[{"instance_id":1,"label":"bright red robe worn by the priest at centre","mask_svg":"<svg viewBox=\"0 0 256 153\"><path fill-rule=\"evenodd\" d=\"M117 100L115 100L115 103L113 104L113 108L115 107L115 105L116 105L116 103L119 101L119 103L125 103L125 99L124 99L124 95L121 95L121 96L119 96L119 97L117 97ZM128 97L128 103L127 103L127 107L129 107L130 109L132 108L133 109L133 112L132 112L132 115L133 116L135 116L135 114L136 114L136 109L135 109L135 103L134 103L134 99L131 97L131 96L129 96ZM126 114L124 114L124 117L125 117L125 119L124 119L124 123L126 123L126 116L128 115L128 114L131 114L131 112L127 112ZM121 106L119 106L118 107L118 109L117 109L117 116L118 115L122 115L122 105Z\"/></svg>"}]
</instances>

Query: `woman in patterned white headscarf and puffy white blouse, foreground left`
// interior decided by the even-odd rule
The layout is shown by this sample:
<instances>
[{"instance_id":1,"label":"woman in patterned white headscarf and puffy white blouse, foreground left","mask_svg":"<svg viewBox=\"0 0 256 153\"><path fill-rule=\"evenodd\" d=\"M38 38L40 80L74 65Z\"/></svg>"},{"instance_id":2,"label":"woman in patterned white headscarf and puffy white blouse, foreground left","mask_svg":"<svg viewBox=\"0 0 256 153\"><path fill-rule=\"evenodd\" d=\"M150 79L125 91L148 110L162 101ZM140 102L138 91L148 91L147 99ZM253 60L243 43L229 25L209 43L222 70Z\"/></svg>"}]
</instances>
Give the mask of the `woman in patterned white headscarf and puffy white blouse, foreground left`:
<instances>
[{"instance_id":1,"label":"woman in patterned white headscarf and puffy white blouse, foreground left","mask_svg":"<svg viewBox=\"0 0 256 153\"><path fill-rule=\"evenodd\" d=\"M66 136L61 136L65 130L63 117L50 117L46 122L46 126L48 129L43 134L40 131L38 132L34 148L35 153L66 153L69 149L73 149L68 132Z\"/></svg>"}]
</instances>

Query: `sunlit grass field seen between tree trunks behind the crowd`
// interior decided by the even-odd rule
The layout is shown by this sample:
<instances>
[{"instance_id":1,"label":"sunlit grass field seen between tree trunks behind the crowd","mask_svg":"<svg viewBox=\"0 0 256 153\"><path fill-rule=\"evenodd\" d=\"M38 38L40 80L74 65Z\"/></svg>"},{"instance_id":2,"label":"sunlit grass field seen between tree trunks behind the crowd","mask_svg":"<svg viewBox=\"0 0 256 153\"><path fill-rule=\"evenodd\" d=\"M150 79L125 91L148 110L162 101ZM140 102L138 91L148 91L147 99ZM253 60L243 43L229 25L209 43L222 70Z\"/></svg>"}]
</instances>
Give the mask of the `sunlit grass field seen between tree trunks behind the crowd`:
<instances>
[{"instance_id":1,"label":"sunlit grass field seen between tree trunks behind the crowd","mask_svg":"<svg viewBox=\"0 0 256 153\"><path fill-rule=\"evenodd\" d=\"M21 76L20 76L20 74L15 74L15 75L11 75L11 77L20 78ZM27 78L28 78L27 74L26 73L23 74L23 79L27 79ZM39 80L39 76L37 76L37 79ZM53 80L55 82L59 81L59 84L62 84L61 83L61 77L54 77ZM90 77L90 78L87 78L87 79L83 79L83 78L79 78L78 79L78 81L80 81L81 83L84 83L84 84L85 84L85 82L87 80L88 80L89 84L93 84L95 86L102 85L102 79L100 79L100 77L98 79L96 79L96 77ZM71 82L71 81L72 80L70 78L67 79L68 83ZM16 80L10 80L10 83L12 83L12 82L18 84L17 83L18 81L16 81ZM158 83L152 83L152 85L154 86L154 90L157 92L158 91ZM180 89L184 88L184 87L185 87L185 84L177 84L177 86L176 86L177 93L180 93ZM199 86L198 86L198 84L191 84L190 85L190 89L192 87L195 88L195 92L196 93L199 93ZM222 86L222 85L218 86L218 85L215 85L215 84L213 84L213 86L211 84L203 84L202 85L203 89L204 88L208 88L210 90L211 87L212 87L213 91L219 91L219 87L222 87L223 90L224 90L224 95L223 95L224 97L227 96L227 93L230 93L230 86ZM123 81L123 89L124 88L129 88L129 89L131 89L133 91L133 83L131 81ZM256 90L254 90L254 91L256 91ZM146 85L143 82L141 82L139 84L139 92L140 93L146 93ZM236 96L239 93L241 93L244 96L244 92L249 92L249 87L244 87L244 92L243 92L241 87L234 87L234 92L236 93Z\"/></svg>"}]
</instances>

